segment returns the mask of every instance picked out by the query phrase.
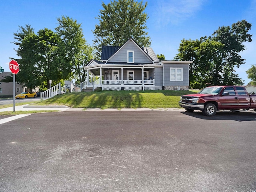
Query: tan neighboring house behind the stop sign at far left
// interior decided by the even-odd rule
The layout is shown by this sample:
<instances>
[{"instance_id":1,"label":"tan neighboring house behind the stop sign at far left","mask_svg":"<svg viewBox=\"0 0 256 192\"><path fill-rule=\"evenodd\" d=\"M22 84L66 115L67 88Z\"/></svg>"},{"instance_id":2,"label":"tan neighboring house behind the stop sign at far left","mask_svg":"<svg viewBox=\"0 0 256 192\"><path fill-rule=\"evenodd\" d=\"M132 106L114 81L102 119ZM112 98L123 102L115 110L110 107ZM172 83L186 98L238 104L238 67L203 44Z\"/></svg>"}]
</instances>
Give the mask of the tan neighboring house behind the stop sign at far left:
<instances>
[{"instance_id":1,"label":"tan neighboring house behind the stop sign at far left","mask_svg":"<svg viewBox=\"0 0 256 192\"><path fill-rule=\"evenodd\" d=\"M11 72L2 72L0 73L0 97L12 97L13 96L13 82L5 83L2 82L5 76L10 76ZM15 84L15 94L20 94L21 92L26 91L26 87L23 87L23 84L16 82Z\"/></svg>"}]
</instances>

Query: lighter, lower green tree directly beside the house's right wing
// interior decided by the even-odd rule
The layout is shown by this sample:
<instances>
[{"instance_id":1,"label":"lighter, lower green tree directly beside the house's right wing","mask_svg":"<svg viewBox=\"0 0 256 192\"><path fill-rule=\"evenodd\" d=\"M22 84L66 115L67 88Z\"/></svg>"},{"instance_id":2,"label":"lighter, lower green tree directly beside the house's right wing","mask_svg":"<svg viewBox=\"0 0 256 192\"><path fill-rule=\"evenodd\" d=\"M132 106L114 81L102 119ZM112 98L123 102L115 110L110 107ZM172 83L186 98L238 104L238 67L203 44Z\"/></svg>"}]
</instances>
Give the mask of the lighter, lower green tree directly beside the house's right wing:
<instances>
[{"instance_id":1,"label":"lighter, lower green tree directly beside the house's right wing","mask_svg":"<svg viewBox=\"0 0 256 192\"><path fill-rule=\"evenodd\" d=\"M179 54L174 59L193 61L189 71L191 88L202 88L218 83L221 58L216 53L222 48L223 44L206 37L200 40L182 40L178 49Z\"/></svg>"}]
</instances>

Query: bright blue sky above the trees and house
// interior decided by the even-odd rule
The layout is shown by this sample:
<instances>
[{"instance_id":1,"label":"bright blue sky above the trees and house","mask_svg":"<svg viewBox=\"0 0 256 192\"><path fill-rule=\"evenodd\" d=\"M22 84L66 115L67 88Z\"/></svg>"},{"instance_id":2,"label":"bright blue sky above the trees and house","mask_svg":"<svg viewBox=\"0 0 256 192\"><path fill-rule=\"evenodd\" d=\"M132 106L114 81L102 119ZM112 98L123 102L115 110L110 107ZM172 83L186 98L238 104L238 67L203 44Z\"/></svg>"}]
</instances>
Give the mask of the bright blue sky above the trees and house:
<instances>
[{"instance_id":1,"label":"bright blue sky above the trees and house","mask_svg":"<svg viewBox=\"0 0 256 192\"><path fill-rule=\"evenodd\" d=\"M110 0L103 0L108 4ZM144 1L146 2L146 1ZM236 73L249 82L246 74L256 64L256 0L148 0L147 27L151 47L156 54L172 60L182 39L196 40L210 36L219 26L231 26L238 20L252 23L252 42L246 43L240 55L246 64ZM43 28L54 30L57 19L69 16L82 24L84 37L92 45L92 30L102 9L101 0L0 0L0 66L9 70L10 57L17 58L13 33L18 26L30 24L35 32Z\"/></svg>"}]
</instances>

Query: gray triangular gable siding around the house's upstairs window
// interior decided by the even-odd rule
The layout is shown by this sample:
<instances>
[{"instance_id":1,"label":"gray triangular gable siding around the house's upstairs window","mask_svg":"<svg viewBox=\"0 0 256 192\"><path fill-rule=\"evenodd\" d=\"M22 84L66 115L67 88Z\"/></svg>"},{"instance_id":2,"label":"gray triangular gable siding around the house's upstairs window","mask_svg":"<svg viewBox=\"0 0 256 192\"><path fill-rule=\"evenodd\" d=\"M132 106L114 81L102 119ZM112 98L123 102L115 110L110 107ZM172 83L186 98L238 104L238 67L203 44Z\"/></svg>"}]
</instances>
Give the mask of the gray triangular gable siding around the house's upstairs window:
<instances>
[{"instance_id":1,"label":"gray triangular gable siding around the house's upstairs window","mask_svg":"<svg viewBox=\"0 0 256 192\"><path fill-rule=\"evenodd\" d=\"M109 60L109 62L127 62L127 51L134 51L134 63L152 63L133 42L129 41Z\"/></svg>"}]
</instances>

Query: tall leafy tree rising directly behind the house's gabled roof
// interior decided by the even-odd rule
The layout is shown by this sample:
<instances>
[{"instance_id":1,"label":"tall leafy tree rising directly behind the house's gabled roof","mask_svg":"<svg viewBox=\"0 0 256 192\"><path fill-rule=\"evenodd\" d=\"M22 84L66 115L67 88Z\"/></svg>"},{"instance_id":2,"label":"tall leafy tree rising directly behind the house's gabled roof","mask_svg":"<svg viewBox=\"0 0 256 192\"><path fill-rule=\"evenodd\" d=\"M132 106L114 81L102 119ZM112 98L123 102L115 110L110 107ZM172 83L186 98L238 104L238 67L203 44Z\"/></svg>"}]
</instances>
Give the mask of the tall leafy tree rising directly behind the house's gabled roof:
<instances>
[{"instance_id":1,"label":"tall leafy tree rising directly behind the house's gabled roof","mask_svg":"<svg viewBox=\"0 0 256 192\"><path fill-rule=\"evenodd\" d=\"M145 30L148 15L144 13L147 2L134 0L113 0L109 4L102 2L99 24L93 34L96 57L100 58L102 46L122 46L129 38L133 38L139 46L150 46L150 37Z\"/></svg>"}]
</instances>

